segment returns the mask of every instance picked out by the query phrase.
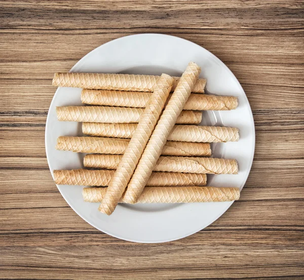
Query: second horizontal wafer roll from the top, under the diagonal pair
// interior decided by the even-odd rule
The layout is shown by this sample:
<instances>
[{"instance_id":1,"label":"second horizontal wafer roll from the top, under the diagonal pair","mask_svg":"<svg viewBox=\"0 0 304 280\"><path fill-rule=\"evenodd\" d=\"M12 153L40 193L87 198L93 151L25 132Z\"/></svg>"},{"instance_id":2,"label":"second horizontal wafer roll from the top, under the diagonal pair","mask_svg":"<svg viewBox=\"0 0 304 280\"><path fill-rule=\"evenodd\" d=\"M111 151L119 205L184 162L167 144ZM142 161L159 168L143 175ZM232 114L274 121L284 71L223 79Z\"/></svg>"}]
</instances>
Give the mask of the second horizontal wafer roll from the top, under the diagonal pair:
<instances>
[{"instance_id":1,"label":"second horizontal wafer roll from the top, under the diagonal pair","mask_svg":"<svg viewBox=\"0 0 304 280\"><path fill-rule=\"evenodd\" d=\"M149 100L148 92L126 92L108 90L83 89L81 101L85 104L144 108ZM237 108L238 98L235 96L216 96L192 93L185 110L232 110Z\"/></svg>"}]
</instances>

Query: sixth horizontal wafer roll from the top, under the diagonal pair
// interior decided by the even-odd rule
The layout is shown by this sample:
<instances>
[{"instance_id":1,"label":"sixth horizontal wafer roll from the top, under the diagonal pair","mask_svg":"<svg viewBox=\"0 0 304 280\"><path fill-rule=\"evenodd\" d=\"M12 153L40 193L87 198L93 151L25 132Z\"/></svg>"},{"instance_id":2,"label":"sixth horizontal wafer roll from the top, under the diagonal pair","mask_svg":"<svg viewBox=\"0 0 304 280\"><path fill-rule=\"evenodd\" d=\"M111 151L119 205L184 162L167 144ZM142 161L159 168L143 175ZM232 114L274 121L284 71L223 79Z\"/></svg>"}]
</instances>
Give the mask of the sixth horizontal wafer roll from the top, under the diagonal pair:
<instances>
[{"instance_id":1,"label":"sixth horizontal wafer roll from the top, under the diagonal pair","mask_svg":"<svg viewBox=\"0 0 304 280\"><path fill-rule=\"evenodd\" d=\"M87 154L84 166L102 169L117 169L122 155ZM235 159L188 156L161 156L153 171L199 174L238 174Z\"/></svg>"}]
</instances>

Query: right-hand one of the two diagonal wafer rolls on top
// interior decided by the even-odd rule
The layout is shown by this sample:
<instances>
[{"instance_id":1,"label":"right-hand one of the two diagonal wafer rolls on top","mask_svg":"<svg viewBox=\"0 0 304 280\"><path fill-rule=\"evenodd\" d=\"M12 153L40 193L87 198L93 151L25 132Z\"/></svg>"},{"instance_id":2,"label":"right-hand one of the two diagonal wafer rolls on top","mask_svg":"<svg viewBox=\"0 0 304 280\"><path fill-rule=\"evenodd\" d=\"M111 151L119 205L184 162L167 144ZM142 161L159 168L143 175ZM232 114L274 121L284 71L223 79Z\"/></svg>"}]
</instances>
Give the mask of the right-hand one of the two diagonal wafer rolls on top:
<instances>
[{"instance_id":1,"label":"right-hand one of the two diagonal wafer rolls on top","mask_svg":"<svg viewBox=\"0 0 304 280\"><path fill-rule=\"evenodd\" d=\"M145 187L200 72L201 68L190 62L182 74L128 184L124 196L128 203L136 203Z\"/></svg>"}]
</instances>

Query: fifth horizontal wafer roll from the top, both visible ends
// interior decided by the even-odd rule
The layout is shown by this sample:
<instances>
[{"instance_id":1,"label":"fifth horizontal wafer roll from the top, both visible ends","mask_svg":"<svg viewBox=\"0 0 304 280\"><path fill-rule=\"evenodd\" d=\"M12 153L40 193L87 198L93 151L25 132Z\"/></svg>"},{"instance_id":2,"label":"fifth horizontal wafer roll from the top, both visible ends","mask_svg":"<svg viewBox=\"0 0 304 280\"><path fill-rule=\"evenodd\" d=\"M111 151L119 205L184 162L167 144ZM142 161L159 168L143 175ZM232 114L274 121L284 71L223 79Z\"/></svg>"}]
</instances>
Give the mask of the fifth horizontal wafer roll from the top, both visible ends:
<instances>
[{"instance_id":1,"label":"fifth horizontal wafer roll from the top, both visible ends","mask_svg":"<svg viewBox=\"0 0 304 280\"><path fill-rule=\"evenodd\" d=\"M123 154L129 141L129 139L119 138L60 136L57 138L56 149L86 153ZM167 141L162 155L210 156L211 147L209 143Z\"/></svg>"}]
</instances>

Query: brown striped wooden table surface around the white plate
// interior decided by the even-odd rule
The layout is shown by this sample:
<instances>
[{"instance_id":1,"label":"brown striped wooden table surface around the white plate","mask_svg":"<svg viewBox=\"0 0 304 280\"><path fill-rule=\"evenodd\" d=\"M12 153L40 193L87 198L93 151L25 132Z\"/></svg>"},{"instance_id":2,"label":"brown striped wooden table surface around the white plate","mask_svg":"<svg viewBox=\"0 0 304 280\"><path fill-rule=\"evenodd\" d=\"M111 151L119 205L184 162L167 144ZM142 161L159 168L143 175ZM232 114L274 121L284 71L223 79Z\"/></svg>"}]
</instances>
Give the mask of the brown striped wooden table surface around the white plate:
<instances>
[{"instance_id":1,"label":"brown striped wooden table surface around the white plate","mask_svg":"<svg viewBox=\"0 0 304 280\"><path fill-rule=\"evenodd\" d=\"M304 279L303 1L0 1L1 279ZM193 41L239 79L256 150L240 201L165 244L104 234L52 180L55 88L96 47L135 33ZM181 225L182 226L182 225Z\"/></svg>"}]
</instances>

